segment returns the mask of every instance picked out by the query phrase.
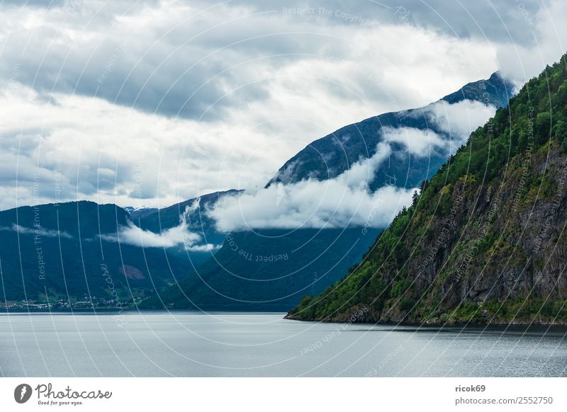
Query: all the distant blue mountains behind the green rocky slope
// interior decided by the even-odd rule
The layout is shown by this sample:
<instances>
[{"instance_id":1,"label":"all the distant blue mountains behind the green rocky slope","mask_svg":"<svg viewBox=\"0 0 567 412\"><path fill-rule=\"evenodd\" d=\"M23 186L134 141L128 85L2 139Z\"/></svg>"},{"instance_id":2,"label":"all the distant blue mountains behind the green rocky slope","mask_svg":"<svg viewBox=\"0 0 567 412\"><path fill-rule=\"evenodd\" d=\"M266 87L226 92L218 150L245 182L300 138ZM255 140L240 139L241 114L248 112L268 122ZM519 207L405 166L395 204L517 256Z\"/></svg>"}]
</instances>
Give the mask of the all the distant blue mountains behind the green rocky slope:
<instances>
[{"instance_id":1,"label":"all the distant blue mountains behind the green rocky slope","mask_svg":"<svg viewBox=\"0 0 567 412\"><path fill-rule=\"evenodd\" d=\"M425 108L386 113L343 127L309 144L266 186L335 178L357 161L371 159L378 144L385 143L388 161L377 165L371 190L392 181L400 188L416 187L437 171L461 138L450 132L456 124L447 108L476 110L480 103L501 107L511 93L512 86L493 74ZM449 115L443 117L437 109ZM427 153L405 142L403 133L415 130L428 141L437 139L433 145L420 142ZM396 139L396 132L403 133ZM4 297L108 297L108 275L101 271L105 265L120 297L143 297L140 307L288 310L303 294L318 294L342 277L381 231L360 227L221 231L208 210L220 198L240 193L210 193L161 210L69 202L0 212L0 239L7 245L0 251ZM34 243L36 208L44 268ZM164 235L181 224L197 235L191 247L143 243L147 234ZM139 235L140 241L126 241L125 228Z\"/></svg>"}]
</instances>

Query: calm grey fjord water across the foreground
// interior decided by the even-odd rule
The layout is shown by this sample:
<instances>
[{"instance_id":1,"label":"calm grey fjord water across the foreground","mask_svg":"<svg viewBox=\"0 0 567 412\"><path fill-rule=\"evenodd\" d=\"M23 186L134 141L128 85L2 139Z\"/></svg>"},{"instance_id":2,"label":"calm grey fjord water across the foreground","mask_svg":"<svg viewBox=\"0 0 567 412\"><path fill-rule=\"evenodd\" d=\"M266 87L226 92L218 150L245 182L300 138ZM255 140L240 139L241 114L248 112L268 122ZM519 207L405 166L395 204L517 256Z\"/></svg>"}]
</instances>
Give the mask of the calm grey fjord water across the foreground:
<instances>
[{"instance_id":1,"label":"calm grey fjord water across the foreground","mask_svg":"<svg viewBox=\"0 0 567 412\"><path fill-rule=\"evenodd\" d=\"M320 324L283 314L0 315L3 376L567 376L566 328Z\"/></svg>"}]
</instances>

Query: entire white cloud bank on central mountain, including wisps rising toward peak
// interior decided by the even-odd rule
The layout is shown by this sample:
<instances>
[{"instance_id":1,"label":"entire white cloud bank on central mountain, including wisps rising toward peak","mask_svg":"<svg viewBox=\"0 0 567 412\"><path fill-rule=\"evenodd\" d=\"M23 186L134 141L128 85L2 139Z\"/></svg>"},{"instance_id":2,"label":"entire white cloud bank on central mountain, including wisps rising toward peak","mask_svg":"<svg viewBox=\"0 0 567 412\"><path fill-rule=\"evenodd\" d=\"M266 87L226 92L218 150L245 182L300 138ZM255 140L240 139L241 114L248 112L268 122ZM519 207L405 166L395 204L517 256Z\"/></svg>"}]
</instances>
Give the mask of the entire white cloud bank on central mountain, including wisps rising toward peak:
<instances>
[{"instance_id":1,"label":"entire white cloud bank on central mountain, including wisps rising toward peak","mask_svg":"<svg viewBox=\"0 0 567 412\"><path fill-rule=\"evenodd\" d=\"M449 156L495 110L493 105L470 100L432 103L420 115L446 135L413 127L384 127L383 142L378 143L374 155L357 161L337 178L276 183L226 197L209 210L208 216L215 219L219 231L386 227L403 207L411 205L412 195L418 190L395 183L370 190L378 166L396 161L391 144L403 144L412 156L429 157L433 151Z\"/></svg>"}]
</instances>

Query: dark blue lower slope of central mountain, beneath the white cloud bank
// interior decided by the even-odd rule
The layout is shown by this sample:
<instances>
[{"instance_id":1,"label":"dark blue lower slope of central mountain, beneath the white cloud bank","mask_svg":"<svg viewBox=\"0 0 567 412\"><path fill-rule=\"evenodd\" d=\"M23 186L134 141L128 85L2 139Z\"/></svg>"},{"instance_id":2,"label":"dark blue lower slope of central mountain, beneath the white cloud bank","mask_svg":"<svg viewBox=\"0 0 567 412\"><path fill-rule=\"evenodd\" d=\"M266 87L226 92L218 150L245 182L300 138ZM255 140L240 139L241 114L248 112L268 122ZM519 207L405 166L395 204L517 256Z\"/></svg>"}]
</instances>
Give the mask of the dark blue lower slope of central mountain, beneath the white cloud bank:
<instances>
[{"instance_id":1,"label":"dark blue lower slope of central mountain, beneath the white cloud bank","mask_svg":"<svg viewBox=\"0 0 567 412\"><path fill-rule=\"evenodd\" d=\"M287 311L305 293L321 292L337 280L378 229L264 229L227 234L223 248L184 277L142 304L175 309ZM259 238L262 240L259 240Z\"/></svg>"}]
</instances>

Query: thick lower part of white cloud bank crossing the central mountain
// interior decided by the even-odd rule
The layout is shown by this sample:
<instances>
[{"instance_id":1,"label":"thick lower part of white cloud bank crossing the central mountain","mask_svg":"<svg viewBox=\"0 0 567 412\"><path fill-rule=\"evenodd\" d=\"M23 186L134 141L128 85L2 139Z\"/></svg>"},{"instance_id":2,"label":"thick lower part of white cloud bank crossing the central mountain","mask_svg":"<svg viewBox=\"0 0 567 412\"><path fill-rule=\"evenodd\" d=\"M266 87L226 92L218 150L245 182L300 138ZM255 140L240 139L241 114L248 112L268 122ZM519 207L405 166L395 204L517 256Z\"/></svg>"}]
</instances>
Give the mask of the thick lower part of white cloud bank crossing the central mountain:
<instances>
[{"instance_id":1,"label":"thick lower part of white cloud bank crossing the central mountain","mask_svg":"<svg viewBox=\"0 0 567 412\"><path fill-rule=\"evenodd\" d=\"M387 144L380 144L373 158L359 161L337 178L273 184L221 198L206 213L215 219L219 231L386 227L404 206L411 204L417 190L388 185L369 193L372 172L387 152Z\"/></svg>"}]
</instances>

